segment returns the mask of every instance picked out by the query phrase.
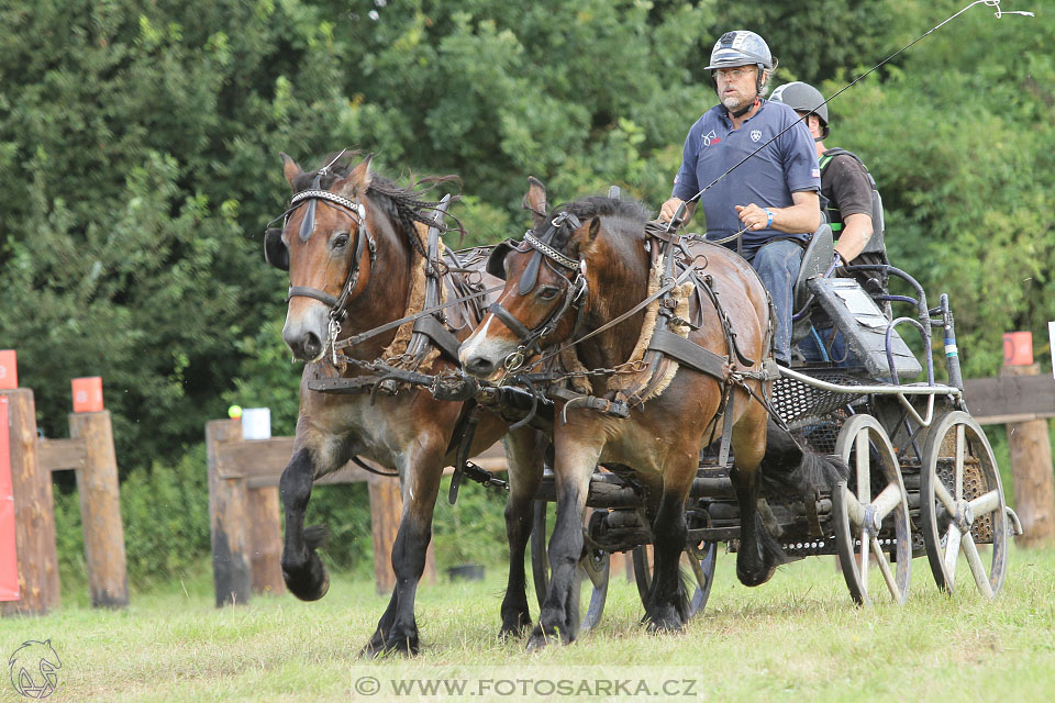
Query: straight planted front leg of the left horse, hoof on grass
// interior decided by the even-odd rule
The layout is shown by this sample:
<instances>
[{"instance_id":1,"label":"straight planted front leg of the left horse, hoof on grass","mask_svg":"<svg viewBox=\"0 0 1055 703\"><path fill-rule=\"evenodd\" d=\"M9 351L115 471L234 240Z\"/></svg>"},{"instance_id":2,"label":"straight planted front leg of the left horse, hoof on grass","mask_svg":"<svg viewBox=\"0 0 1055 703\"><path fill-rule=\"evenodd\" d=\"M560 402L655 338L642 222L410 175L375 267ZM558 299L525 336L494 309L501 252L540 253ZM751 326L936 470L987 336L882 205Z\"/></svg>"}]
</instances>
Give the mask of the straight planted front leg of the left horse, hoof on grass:
<instances>
[{"instance_id":1,"label":"straight planted front leg of the left horse, hoof on grass","mask_svg":"<svg viewBox=\"0 0 1055 703\"><path fill-rule=\"evenodd\" d=\"M400 471L406 480L402 487L403 512L392 544L396 587L377 629L359 652L364 657L385 652L417 655L419 650L414 599L418 583L425 572L433 510L443 475L443 447L435 445L421 449L408 458L407 466Z\"/></svg>"}]
</instances>

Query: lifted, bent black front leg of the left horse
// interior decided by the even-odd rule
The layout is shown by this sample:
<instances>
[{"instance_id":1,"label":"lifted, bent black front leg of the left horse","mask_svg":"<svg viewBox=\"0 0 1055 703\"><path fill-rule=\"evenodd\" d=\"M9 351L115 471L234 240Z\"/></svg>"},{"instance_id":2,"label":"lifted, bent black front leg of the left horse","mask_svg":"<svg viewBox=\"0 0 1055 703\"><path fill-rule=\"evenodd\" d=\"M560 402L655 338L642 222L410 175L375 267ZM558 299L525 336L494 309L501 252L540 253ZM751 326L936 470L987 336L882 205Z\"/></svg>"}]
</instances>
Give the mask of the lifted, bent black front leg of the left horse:
<instances>
[{"instance_id":1,"label":"lifted, bent black front leg of the left horse","mask_svg":"<svg viewBox=\"0 0 1055 703\"><path fill-rule=\"evenodd\" d=\"M301 448L293 454L278 483L286 510L282 578L290 593L302 601L318 601L330 589L330 574L315 551L325 538L325 528L322 525L304 527L315 469L311 453Z\"/></svg>"}]
</instances>

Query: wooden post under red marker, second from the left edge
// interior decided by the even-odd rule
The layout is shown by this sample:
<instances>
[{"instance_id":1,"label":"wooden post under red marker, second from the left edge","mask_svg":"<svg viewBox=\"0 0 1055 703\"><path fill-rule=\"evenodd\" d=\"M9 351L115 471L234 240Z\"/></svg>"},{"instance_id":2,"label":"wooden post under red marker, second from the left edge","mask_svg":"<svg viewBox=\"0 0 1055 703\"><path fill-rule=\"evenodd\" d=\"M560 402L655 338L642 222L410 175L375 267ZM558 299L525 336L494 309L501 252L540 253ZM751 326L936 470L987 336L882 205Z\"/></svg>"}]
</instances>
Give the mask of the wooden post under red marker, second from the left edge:
<instances>
[{"instance_id":1,"label":"wooden post under red marker, second from the left edge","mask_svg":"<svg viewBox=\"0 0 1055 703\"><path fill-rule=\"evenodd\" d=\"M129 578L110 412L70 413L69 437L85 442L86 461L76 473L91 604L124 607L129 604Z\"/></svg>"}]
</instances>

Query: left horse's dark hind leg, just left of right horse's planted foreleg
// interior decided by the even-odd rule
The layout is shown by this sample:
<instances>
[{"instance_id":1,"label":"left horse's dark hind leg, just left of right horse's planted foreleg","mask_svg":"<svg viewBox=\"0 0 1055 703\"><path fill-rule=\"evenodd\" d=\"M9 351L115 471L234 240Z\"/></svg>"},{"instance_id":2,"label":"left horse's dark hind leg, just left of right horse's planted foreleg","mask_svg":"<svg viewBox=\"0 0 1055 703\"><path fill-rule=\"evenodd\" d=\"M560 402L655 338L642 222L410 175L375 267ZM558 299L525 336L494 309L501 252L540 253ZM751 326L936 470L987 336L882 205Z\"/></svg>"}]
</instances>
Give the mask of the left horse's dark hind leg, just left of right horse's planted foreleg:
<instances>
[{"instance_id":1,"label":"left horse's dark hind leg, just left of right horse's planted foreleg","mask_svg":"<svg viewBox=\"0 0 1055 703\"><path fill-rule=\"evenodd\" d=\"M534 429L523 427L507 435L506 457L509 462L509 500L506 502L506 536L509 539L509 580L502 599L503 639L520 636L531 626L528 609L528 576L524 553L531 536L532 506L542 483L542 460L546 438Z\"/></svg>"}]
</instances>

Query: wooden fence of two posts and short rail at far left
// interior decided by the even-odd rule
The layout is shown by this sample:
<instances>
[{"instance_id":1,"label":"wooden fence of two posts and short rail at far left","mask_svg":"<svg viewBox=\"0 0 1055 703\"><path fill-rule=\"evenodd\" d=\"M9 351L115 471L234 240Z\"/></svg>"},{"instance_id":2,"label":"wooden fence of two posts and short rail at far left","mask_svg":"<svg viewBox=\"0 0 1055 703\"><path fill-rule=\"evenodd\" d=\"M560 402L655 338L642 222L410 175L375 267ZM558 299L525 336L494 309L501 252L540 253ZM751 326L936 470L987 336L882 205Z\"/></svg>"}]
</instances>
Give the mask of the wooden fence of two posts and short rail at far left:
<instances>
[{"instance_id":1,"label":"wooden fence of two posts and short rail at far left","mask_svg":"<svg viewBox=\"0 0 1055 703\"><path fill-rule=\"evenodd\" d=\"M77 473L92 605L127 605L124 528L110 413L70 413L69 439L48 439L38 436L32 390L0 390L0 402L7 404L10 427L19 583L18 600L0 603L0 613L43 614L59 605L52 471L64 469Z\"/></svg>"}]
</instances>

